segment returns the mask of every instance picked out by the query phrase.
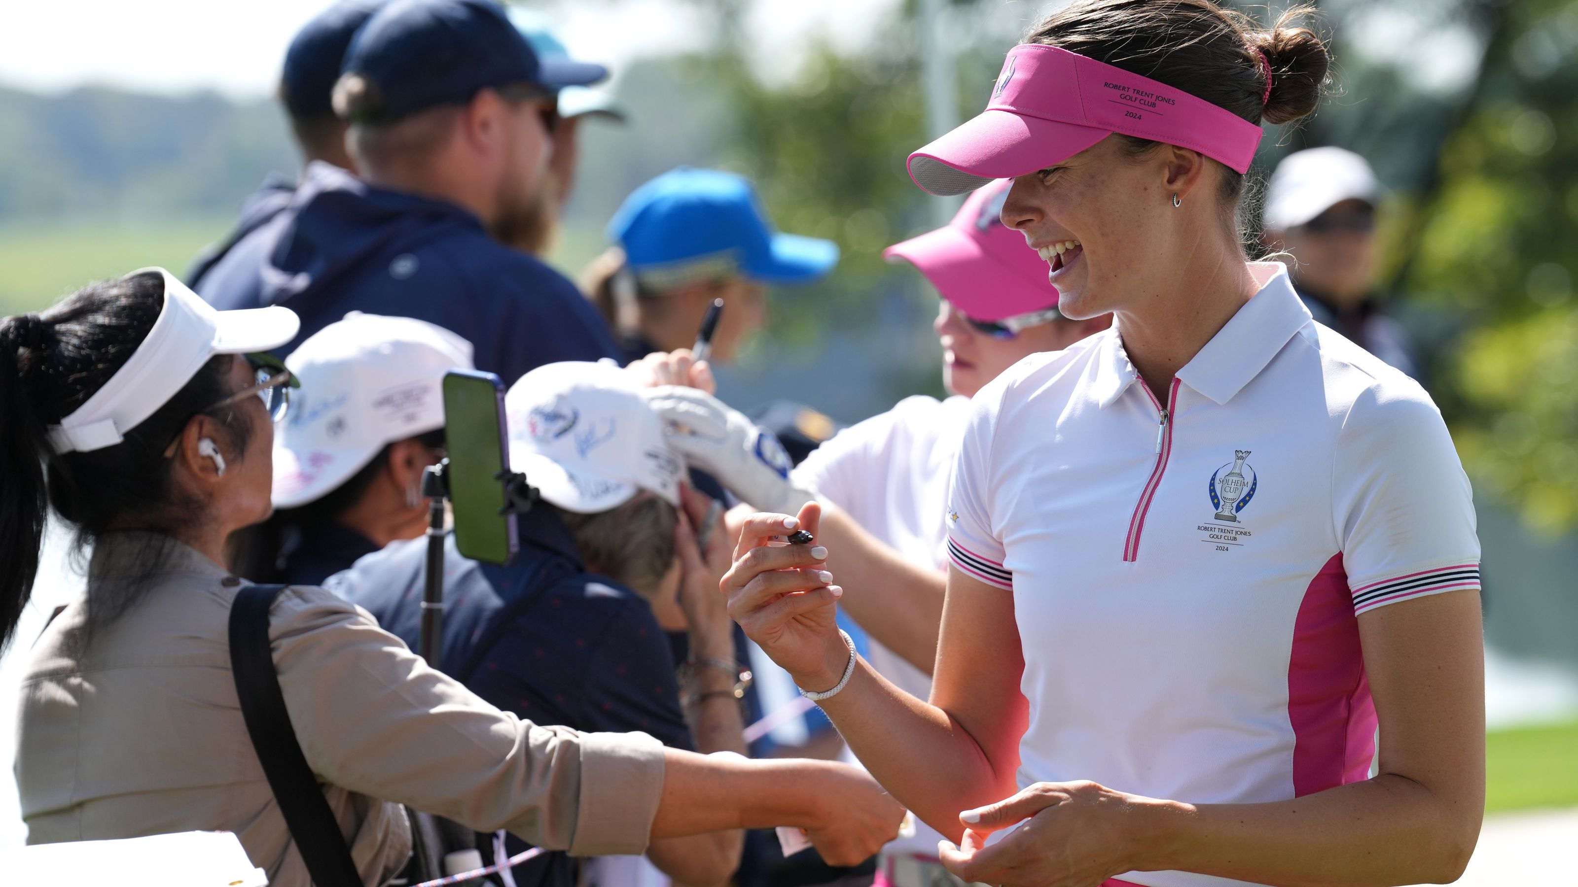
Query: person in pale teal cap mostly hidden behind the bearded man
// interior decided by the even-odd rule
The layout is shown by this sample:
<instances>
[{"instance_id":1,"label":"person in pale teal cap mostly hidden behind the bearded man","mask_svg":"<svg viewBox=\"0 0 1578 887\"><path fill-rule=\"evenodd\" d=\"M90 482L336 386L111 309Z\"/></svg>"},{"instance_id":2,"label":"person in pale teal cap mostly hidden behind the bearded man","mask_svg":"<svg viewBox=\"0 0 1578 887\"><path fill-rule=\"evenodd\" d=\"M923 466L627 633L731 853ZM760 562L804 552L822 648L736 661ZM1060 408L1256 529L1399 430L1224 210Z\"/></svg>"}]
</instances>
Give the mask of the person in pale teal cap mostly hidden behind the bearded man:
<instances>
[{"instance_id":1,"label":"person in pale teal cap mostly hidden behind the bearded man","mask_svg":"<svg viewBox=\"0 0 1578 887\"><path fill-rule=\"evenodd\" d=\"M524 6L510 8L510 21L521 28L538 58L570 58L565 44L548 27L548 19ZM576 183L576 164L581 155L581 122L593 117L625 122L625 110L604 90L590 87L563 87L557 96L559 125L554 126L552 153L548 155L548 172L543 186L537 189L532 211L516 219L519 229L499 232L499 240L543 257L554 246L559 234L559 218L570 202Z\"/></svg>"}]
</instances>

